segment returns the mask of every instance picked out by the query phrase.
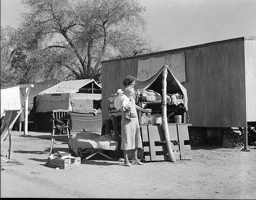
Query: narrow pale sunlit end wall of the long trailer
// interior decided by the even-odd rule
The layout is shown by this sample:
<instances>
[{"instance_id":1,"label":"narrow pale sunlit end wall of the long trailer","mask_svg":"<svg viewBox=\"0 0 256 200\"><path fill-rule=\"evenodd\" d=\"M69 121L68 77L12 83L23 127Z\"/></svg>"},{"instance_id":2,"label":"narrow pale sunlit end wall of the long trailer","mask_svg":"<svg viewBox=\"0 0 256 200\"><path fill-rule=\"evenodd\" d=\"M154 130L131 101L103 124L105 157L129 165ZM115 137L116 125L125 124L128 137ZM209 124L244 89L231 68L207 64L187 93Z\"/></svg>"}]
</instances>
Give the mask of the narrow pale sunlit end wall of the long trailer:
<instances>
[{"instance_id":1,"label":"narrow pale sunlit end wall of the long trailer","mask_svg":"<svg viewBox=\"0 0 256 200\"><path fill-rule=\"evenodd\" d=\"M244 40L247 122L256 122L256 39Z\"/></svg>"}]
</instances>

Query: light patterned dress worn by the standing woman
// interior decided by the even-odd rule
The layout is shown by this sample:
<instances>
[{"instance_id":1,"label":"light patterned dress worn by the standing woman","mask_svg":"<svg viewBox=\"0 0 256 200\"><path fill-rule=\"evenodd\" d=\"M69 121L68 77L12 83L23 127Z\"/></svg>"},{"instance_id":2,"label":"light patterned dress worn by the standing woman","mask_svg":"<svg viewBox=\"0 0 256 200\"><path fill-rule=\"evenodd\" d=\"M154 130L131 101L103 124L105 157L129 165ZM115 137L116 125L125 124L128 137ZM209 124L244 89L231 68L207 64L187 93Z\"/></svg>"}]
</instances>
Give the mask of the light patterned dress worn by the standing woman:
<instances>
[{"instance_id":1,"label":"light patterned dress worn by the standing woman","mask_svg":"<svg viewBox=\"0 0 256 200\"><path fill-rule=\"evenodd\" d=\"M131 96L130 101L131 111L133 111L134 115L137 116L137 111L135 107L135 99L134 96ZM121 149L129 150L142 148L142 141L140 136L140 125L139 119L131 118L131 120L125 118L125 112L122 112L122 120L121 120Z\"/></svg>"}]
</instances>

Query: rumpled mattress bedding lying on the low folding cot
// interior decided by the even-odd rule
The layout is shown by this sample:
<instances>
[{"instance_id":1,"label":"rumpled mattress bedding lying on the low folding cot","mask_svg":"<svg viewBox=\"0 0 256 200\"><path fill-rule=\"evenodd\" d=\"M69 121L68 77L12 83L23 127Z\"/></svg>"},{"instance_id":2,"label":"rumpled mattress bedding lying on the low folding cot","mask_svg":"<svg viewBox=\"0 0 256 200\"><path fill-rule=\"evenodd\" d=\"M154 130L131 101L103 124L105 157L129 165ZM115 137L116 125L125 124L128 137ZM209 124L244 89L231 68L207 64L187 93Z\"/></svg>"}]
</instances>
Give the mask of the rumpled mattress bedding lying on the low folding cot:
<instances>
[{"instance_id":1,"label":"rumpled mattress bedding lying on the low folding cot","mask_svg":"<svg viewBox=\"0 0 256 200\"><path fill-rule=\"evenodd\" d=\"M70 137L68 144L78 155L79 148L117 150L118 143L110 135L100 135L94 132L79 132Z\"/></svg>"}]
</instances>

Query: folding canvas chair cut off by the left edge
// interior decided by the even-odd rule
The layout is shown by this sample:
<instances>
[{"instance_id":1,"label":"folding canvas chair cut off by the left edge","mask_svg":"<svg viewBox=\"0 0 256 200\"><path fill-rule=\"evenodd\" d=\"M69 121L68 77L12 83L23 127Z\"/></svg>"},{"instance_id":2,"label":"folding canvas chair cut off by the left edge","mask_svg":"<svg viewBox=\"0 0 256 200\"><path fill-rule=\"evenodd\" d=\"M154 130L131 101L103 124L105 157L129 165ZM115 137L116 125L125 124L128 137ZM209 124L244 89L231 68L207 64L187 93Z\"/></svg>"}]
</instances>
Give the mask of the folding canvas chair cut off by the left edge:
<instances>
[{"instance_id":1,"label":"folding canvas chair cut off by the left edge","mask_svg":"<svg viewBox=\"0 0 256 200\"><path fill-rule=\"evenodd\" d=\"M12 158L12 127L16 120L18 119L18 116L21 114L22 108L20 110L4 110L3 113L1 113L1 117L4 115L3 124L1 125L1 145L4 140L9 135L9 149L2 149L1 148L1 159L6 161L7 163L15 163L15 164L22 164L19 161L16 161ZM6 154L8 152L8 155ZM8 157L7 157L8 156Z\"/></svg>"}]
</instances>

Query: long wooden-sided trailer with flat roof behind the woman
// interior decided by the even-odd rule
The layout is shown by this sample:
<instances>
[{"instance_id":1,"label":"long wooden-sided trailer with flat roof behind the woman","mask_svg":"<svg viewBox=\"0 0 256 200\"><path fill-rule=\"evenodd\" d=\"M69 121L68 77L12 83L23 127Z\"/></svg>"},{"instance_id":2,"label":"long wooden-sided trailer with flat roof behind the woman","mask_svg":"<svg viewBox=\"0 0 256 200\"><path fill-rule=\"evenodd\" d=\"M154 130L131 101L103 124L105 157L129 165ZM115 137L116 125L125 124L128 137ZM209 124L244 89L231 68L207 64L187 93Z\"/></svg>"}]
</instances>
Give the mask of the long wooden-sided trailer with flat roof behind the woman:
<instances>
[{"instance_id":1,"label":"long wooden-sided trailer with flat roof behind the woman","mask_svg":"<svg viewBox=\"0 0 256 200\"><path fill-rule=\"evenodd\" d=\"M181 56L176 59L176 55ZM241 127L247 149L245 130L255 132L256 126L256 37L102 61L102 121L109 119L108 98L122 88L123 78L127 75L138 78L143 75L141 62L161 57L169 59L171 72L178 70L174 75L187 90L190 134L196 138L201 129ZM183 67L184 72L180 73Z\"/></svg>"}]
</instances>

